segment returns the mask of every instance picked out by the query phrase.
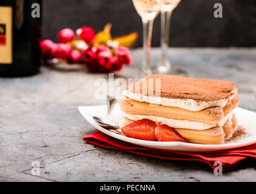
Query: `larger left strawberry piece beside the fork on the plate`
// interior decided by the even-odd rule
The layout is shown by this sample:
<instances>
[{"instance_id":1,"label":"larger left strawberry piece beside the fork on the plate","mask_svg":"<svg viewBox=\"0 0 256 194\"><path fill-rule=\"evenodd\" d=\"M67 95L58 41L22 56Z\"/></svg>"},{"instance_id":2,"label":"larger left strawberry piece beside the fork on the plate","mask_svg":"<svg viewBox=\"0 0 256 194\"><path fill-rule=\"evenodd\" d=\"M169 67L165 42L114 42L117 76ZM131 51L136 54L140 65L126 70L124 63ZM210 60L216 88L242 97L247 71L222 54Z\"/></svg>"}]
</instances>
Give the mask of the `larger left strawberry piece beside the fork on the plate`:
<instances>
[{"instance_id":1,"label":"larger left strawberry piece beside the fork on the plate","mask_svg":"<svg viewBox=\"0 0 256 194\"><path fill-rule=\"evenodd\" d=\"M156 135L154 135L154 129L156 127L156 122L150 119L142 119L126 125L123 127L122 132L129 138L155 141Z\"/></svg>"}]
</instances>

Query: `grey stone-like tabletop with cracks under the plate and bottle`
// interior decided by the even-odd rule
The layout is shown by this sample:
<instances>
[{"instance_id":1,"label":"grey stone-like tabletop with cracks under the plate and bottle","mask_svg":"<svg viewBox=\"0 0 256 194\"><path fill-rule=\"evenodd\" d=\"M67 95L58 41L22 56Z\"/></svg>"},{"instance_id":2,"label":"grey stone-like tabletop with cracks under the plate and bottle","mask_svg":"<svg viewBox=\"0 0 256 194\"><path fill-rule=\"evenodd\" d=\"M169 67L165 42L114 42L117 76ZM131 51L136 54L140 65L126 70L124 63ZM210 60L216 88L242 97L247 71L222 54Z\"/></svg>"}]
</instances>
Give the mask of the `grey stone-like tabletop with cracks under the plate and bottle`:
<instances>
[{"instance_id":1,"label":"grey stone-like tabletop with cracks under the plate and bottle","mask_svg":"<svg viewBox=\"0 0 256 194\"><path fill-rule=\"evenodd\" d=\"M159 49L152 49L156 64ZM134 77L142 50L116 77ZM233 81L240 107L256 112L256 49L170 49L174 69L190 77ZM27 78L0 78L0 181L255 181L256 162L216 176L202 162L165 161L86 144L96 130L78 113L95 99L97 78L85 69L42 67ZM39 162L40 174L32 173Z\"/></svg>"}]
</instances>

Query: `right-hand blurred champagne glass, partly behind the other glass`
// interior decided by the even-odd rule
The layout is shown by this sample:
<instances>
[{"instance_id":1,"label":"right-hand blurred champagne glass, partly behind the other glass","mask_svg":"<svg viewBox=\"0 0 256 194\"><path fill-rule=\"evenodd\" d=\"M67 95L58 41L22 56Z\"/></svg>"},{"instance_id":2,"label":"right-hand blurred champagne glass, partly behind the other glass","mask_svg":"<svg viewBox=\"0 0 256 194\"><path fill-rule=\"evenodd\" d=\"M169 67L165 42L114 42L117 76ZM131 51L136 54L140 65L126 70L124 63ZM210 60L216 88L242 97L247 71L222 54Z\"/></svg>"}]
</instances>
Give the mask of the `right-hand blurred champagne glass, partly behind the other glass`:
<instances>
[{"instance_id":1,"label":"right-hand blurred champagne glass, partly behind the other glass","mask_svg":"<svg viewBox=\"0 0 256 194\"><path fill-rule=\"evenodd\" d=\"M172 73L178 75L185 75L186 73L182 70L179 72L171 72L171 64L168 61L167 50L170 36L170 20L171 13L181 0L161 0L161 56L157 63L158 73Z\"/></svg>"}]
</instances>

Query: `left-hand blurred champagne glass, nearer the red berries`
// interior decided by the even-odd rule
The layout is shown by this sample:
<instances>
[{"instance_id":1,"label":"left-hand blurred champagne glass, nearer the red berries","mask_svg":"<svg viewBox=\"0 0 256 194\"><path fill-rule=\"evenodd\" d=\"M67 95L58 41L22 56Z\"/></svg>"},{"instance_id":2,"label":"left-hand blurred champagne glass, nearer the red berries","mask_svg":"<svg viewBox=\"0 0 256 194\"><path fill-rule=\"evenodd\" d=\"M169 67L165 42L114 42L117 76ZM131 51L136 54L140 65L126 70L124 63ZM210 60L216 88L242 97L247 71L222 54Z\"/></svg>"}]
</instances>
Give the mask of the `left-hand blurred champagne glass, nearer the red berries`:
<instances>
[{"instance_id":1,"label":"left-hand blurred champagne glass, nearer the red berries","mask_svg":"<svg viewBox=\"0 0 256 194\"><path fill-rule=\"evenodd\" d=\"M154 18L160 12L161 0L133 0L133 5L142 18L143 23L144 61L142 63L141 76L144 77L152 74L150 66L152 28Z\"/></svg>"}]
</instances>

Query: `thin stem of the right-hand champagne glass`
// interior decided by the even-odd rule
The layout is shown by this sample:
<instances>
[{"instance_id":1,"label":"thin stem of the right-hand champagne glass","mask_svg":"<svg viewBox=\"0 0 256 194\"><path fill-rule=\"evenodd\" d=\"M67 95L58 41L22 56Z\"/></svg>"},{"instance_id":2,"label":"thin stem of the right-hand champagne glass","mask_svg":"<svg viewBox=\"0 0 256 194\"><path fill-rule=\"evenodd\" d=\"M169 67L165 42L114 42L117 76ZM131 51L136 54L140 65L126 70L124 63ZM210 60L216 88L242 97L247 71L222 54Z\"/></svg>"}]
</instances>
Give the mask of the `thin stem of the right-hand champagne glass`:
<instances>
[{"instance_id":1,"label":"thin stem of the right-hand champagne glass","mask_svg":"<svg viewBox=\"0 0 256 194\"><path fill-rule=\"evenodd\" d=\"M169 46L171 11L161 11L161 61L168 61L167 50Z\"/></svg>"}]
</instances>

